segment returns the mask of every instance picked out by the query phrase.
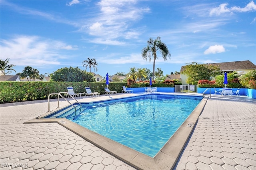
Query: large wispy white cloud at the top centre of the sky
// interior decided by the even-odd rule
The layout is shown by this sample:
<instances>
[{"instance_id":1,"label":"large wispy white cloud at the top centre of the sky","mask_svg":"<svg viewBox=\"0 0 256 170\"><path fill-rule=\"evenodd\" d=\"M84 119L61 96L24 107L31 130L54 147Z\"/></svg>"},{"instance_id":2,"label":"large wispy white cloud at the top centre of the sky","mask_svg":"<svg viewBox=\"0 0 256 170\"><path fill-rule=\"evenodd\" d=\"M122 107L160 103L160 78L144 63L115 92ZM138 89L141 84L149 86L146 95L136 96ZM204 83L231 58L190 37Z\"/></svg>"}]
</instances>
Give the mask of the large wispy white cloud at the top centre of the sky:
<instances>
[{"instance_id":1,"label":"large wispy white cloud at the top centre of the sky","mask_svg":"<svg viewBox=\"0 0 256 170\"><path fill-rule=\"evenodd\" d=\"M87 21L88 25L80 27L80 31L96 37L91 42L101 40L106 45L123 45L120 39L138 38L141 34L137 29L131 30L131 25L142 19L143 14L149 12L149 8L137 7L136 0L102 0L96 5L100 12Z\"/></svg>"}]
</instances>

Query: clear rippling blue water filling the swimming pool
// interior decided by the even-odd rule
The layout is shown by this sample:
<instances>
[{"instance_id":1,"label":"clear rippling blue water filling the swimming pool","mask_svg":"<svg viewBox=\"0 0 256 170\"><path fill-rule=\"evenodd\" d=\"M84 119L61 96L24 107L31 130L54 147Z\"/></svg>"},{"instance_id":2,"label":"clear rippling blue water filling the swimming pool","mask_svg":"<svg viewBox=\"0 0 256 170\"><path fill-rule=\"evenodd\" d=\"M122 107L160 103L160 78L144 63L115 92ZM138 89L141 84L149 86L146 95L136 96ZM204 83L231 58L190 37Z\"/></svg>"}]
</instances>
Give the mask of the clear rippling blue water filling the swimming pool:
<instances>
[{"instance_id":1,"label":"clear rippling blue water filling the swimming pool","mask_svg":"<svg viewBox=\"0 0 256 170\"><path fill-rule=\"evenodd\" d=\"M202 97L146 95L92 104L51 117L66 117L96 133L154 157ZM79 108L79 107L78 107Z\"/></svg>"}]
</instances>

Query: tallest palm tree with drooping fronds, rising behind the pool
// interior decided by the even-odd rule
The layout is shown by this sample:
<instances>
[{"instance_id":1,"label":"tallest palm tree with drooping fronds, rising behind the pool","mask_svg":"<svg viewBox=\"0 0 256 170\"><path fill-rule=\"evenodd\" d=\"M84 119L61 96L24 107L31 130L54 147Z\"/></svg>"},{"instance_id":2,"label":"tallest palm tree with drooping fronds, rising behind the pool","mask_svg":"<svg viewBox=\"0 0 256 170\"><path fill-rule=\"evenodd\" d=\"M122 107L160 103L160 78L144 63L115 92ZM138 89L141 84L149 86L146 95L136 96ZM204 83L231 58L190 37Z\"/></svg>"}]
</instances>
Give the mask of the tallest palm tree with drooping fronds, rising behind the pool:
<instances>
[{"instance_id":1,"label":"tallest palm tree with drooping fronds, rising behind the pool","mask_svg":"<svg viewBox=\"0 0 256 170\"><path fill-rule=\"evenodd\" d=\"M167 60L167 56L170 58L171 54L168 50L168 47L161 41L161 37L157 37L157 39L153 40L152 38L150 38L148 40L148 46L144 47L142 49L142 58L144 60L149 59L149 62L151 62L151 53L153 55L153 76L152 79L154 80L155 78L155 63L156 63L156 52L160 51L160 53L162 53L162 57L164 58L164 61Z\"/></svg>"}]
</instances>

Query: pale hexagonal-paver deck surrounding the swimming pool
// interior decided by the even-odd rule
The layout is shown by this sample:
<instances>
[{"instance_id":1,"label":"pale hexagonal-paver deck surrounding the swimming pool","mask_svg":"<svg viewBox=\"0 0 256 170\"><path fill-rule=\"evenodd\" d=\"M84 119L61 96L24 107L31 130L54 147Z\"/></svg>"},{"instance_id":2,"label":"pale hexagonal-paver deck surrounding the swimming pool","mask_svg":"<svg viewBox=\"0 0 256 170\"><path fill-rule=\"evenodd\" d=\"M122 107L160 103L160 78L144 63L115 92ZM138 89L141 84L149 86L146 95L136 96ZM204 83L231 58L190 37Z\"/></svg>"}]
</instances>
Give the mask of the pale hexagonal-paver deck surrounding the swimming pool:
<instances>
[{"instance_id":1,"label":"pale hexagonal-paver deck surrounding the swimming pool","mask_svg":"<svg viewBox=\"0 0 256 170\"><path fill-rule=\"evenodd\" d=\"M93 99L89 97L76 99L79 102L93 102L136 95L138 94L117 94L102 95ZM66 101L60 100L60 107L66 105ZM51 100L50 110L56 107L57 100ZM60 122L24 124L47 111L47 100L0 104L1 170L11 169L10 165L23 166L16 169L31 170L135 169L129 165L130 163L126 164L118 156L113 156L116 154L107 153L86 141L81 135L66 129ZM204 119L206 117L209 119ZM151 168L256 169L256 100L243 96L212 95L212 98L208 98L194 126L184 150L177 155L176 164L172 162L170 164L173 165L166 168ZM178 145L180 143L176 146ZM123 154L129 155L129 153ZM158 161L164 159L159 157ZM155 162L157 163L157 160ZM143 164L139 168L148 169Z\"/></svg>"}]
</instances>

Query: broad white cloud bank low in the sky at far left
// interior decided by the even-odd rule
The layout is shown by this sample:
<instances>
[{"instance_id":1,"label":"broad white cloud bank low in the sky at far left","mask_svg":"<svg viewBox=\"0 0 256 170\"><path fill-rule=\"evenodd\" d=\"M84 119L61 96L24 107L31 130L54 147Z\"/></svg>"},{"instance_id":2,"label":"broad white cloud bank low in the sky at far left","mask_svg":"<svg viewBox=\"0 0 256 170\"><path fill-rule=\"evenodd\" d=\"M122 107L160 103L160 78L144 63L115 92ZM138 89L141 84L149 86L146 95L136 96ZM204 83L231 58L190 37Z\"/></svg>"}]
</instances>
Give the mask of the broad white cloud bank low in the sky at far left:
<instances>
[{"instance_id":1,"label":"broad white cloud bank low in the sky at far left","mask_svg":"<svg viewBox=\"0 0 256 170\"><path fill-rule=\"evenodd\" d=\"M2 57L10 57L16 66L59 65L66 58L60 50L74 50L76 46L38 36L16 35L13 39L1 39Z\"/></svg>"}]
</instances>

